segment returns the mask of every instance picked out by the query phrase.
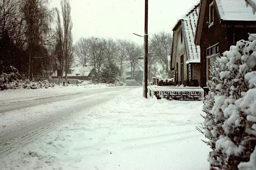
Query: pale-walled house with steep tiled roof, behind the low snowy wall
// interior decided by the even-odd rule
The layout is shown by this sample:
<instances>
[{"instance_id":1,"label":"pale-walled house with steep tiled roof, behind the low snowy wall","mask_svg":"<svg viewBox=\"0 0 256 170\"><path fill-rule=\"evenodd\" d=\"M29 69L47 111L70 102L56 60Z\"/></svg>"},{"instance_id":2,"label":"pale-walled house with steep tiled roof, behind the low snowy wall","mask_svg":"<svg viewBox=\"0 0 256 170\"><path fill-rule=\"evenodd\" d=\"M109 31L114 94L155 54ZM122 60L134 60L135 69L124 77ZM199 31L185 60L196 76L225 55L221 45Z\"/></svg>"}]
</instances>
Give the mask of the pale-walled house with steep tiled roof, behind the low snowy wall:
<instances>
[{"instance_id":1,"label":"pale-walled house with steep tiled roof, behind the low snowy wall","mask_svg":"<svg viewBox=\"0 0 256 170\"><path fill-rule=\"evenodd\" d=\"M171 70L175 70L175 84L199 86L200 46L194 43L199 3L181 17L173 27Z\"/></svg>"}]
</instances>

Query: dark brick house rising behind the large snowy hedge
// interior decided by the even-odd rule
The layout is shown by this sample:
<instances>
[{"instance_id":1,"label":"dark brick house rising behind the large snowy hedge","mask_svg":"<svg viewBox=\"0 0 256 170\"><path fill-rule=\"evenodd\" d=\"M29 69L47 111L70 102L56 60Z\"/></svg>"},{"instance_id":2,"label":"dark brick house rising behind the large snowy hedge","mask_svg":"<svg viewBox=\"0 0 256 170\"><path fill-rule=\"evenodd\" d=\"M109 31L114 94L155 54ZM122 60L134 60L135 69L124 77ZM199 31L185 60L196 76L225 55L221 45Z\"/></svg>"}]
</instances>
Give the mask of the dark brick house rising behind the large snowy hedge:
<instances>
[{"instance_id":1,"label":"dark brick house rising behind the large snowy hedge","mask_svg":"<svg viewBox=\"0 0 256 170\"><path fill-rule=\"evenodd\" d=\"M205 87L217 56L240 39L256 33L256 15L238 0L201 0L195 45L201 48L201 81Z\"/></svg>"}]
</instances>

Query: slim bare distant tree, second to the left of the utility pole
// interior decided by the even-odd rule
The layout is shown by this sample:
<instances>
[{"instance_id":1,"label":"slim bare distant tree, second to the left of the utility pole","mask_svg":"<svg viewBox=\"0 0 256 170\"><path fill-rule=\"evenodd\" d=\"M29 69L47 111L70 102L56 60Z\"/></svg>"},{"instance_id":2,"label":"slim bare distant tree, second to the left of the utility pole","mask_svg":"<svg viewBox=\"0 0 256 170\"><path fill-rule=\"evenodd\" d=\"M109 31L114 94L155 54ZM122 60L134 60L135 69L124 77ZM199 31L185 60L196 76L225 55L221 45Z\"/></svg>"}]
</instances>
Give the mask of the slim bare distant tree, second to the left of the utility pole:
<instances>
[{"instance_id":1,"label":"slim bare distant tree, second to the left of the utility pole","mask_svg":"<svg viewBox=\"0 0 256 170\"><path fill-rule=\"evenodd\" d=\"M128 41L125 39L118 39L117 40L117 48L118 48L118 61L120 63L120 72L121 72L121 77L123 81L123 62L125 57L127 56L127 51L126 51L126 46L128 44Z\"/></svg>"}]
</instances>

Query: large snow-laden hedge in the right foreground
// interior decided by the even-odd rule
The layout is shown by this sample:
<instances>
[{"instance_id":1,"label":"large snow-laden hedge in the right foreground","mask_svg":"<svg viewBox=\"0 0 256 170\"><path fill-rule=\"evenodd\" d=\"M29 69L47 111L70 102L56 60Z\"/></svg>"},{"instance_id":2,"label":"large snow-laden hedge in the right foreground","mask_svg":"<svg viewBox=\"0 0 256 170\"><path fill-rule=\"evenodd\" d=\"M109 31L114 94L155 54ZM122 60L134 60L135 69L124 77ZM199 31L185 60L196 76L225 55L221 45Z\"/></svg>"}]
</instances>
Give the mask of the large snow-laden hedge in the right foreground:
<instances>
[{"instance_id":1,"label":"large snow-laden hedge in the right foreground","mask_svg":"<svg viewBox=\"0 0 256 170\"><path fill-rule=\"evenodd\" d=\"M256 170L256 38L240 40L216 59L205 115L197 127L212 151L211 170Z\"/></svg>"}]
</instances>

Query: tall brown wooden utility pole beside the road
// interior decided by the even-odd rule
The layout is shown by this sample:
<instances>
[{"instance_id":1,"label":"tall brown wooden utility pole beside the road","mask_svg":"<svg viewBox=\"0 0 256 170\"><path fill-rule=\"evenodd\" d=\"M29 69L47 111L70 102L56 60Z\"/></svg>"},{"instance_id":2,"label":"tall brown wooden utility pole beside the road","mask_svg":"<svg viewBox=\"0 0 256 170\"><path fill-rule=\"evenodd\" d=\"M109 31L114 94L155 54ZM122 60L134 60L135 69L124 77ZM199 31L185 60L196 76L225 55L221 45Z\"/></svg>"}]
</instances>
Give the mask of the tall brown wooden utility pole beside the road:
<instances>
[{"instance_id":1,"label":"tall brown wooden utility pole beside the road","mask_svg":"<svg viewBox=\"0 0 256 170\"><path fill-rule=\"evenodd\" d=\"M144 85L143 85L143 96L147 98L147 56L148 56L148 39L149 35L147 32L148 25L148 0L145 0L145 29L144 29Z\"/></svg>"}]
</instances>

